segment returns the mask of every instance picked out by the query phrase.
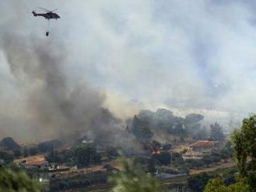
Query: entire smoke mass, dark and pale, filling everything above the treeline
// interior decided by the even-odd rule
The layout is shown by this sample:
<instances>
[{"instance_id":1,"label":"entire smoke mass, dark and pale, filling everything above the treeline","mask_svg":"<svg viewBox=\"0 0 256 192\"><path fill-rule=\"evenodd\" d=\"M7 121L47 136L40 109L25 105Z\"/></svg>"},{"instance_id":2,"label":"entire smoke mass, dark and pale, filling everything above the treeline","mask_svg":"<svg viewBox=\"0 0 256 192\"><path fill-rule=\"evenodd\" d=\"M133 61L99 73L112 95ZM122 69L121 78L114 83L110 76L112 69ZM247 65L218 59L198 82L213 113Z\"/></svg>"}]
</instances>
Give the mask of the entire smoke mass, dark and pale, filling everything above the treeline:
<instances>
[{"instance_id":1,"label":"entire smoke mass, dark and pale, filling everything above the treeline","mask_svg":"<svg viewBox=\"0 0 256 192\"><path fill-rule=\"evenodd\" d=\"M151 110L168 106L206 118L209 113L214 121L230 119L227 124L256 108L253 2L0 2L2 135L16 132L16 125L22 130L16 134L24 138L23 130L51 135L52 125L61 132L56 135L65 135L64 127L92 125L88 119L102 105L114 103L115 114L122 116L124 110L116 106L122 102L116 99L123 98ZM31 15L38 6L57 8L61 15L51 23L49 38L44 36L47 22ZM81 122L79 115L87 111L71 97L92 97L97 103L85 104L95 108L88 119ZM126 105L125 111L134 110ZM38 112L45 114L38 117ZM47 131L33 122L44 122Z\"/></svg>"}]
</instances>

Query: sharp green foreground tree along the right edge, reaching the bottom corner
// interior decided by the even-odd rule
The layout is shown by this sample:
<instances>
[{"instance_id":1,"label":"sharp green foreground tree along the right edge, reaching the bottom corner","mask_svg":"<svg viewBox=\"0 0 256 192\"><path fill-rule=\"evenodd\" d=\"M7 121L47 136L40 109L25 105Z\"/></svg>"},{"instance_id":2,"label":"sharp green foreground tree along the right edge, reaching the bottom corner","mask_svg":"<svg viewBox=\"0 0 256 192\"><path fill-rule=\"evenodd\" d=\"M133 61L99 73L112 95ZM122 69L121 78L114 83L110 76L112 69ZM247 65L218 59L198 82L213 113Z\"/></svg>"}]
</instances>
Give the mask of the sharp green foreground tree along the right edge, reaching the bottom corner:
<instances>
[{"instance_id":1,"label":"sharp green foreground tree along the right edge, reaching the bottom corner","mask_svg":"<svg viewBox=\"0 0 256 192\"><path fill-rule=\"evenodd\" d=\"M227 191L227 192L253 192L256 188L256 115L251 115L249 118L244 118L243 125L240 130L235 130L231 136L237 166L239 169L239 177L237 182L224 187L222 181L212 180L206 187L208 191ZM227 143L227 149L230 144ZM218 186L219 185L219 186ZM221 188L220 188L221 187ZM220 190L221 189L221 190Z\"/></svg>"}]
</instances>

